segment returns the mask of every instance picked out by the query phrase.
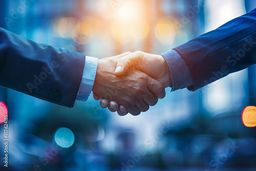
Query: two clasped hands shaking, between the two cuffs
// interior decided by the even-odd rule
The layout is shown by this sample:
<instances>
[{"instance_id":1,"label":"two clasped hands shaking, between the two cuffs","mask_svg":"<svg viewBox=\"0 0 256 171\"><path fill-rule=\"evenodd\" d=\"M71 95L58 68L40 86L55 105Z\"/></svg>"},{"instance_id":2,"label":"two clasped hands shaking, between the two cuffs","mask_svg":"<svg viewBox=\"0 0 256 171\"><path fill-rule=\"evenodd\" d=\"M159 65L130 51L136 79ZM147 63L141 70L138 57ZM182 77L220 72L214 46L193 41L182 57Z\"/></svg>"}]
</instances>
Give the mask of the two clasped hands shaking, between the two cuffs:
<instances>
[{"instance_id":1,"label":"two clasped hands shaking, between the two cuffs","mask_svg":"<svg viewBox=\"0 0 256 171\"><path fill-rule=\"evenodd\" d=\"M165 59L136 51L100 59L92 91L102 108L139 115L163 98L169 86L172 76Z\"/></svg>"}]
</instances>

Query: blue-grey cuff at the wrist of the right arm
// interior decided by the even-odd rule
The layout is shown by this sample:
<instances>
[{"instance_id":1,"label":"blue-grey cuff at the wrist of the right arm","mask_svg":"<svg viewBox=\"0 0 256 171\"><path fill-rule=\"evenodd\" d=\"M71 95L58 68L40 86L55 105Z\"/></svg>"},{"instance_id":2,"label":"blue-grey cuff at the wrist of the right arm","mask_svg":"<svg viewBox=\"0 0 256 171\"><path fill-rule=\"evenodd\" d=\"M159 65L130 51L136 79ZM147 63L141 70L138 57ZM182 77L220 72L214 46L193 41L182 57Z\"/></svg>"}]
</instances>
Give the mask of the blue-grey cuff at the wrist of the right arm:
<instances>
[{"instance_id":1,"label":"blue-grey cuff at the wrist of the right arm","mask_svg":"<svg viewBox=\"0 0 256 171\"><path fill-rule=\"evenodd\" d=\"M170 69L170 77L173 81L172 91L191 86L193 83L192 76L186 65L185 60L176 50L161 53Z\"/></svg>"}]
</instances>

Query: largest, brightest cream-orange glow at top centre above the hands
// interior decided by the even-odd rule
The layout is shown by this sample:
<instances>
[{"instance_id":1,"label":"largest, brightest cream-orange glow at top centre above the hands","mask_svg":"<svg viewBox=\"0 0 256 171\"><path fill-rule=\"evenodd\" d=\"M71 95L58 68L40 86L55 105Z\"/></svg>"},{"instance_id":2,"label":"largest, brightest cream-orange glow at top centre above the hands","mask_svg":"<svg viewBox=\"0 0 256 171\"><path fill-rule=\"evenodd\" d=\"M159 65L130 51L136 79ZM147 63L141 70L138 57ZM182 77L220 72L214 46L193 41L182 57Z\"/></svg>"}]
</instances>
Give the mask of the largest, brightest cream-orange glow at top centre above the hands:
<instances>
[{"instance_id":1,"label":"largest, brightest cream-orange glow at top centre above the hands","mask_svg":"<svg viewBox=\"0 0 256 171\"><path fill-rule=\"evenodd\" d=\"M150 25L144 17L145 8L140 1L123 1L113 13L111 34L122 43L136 43L150 33Z\"/></svg>"}]
</instances>

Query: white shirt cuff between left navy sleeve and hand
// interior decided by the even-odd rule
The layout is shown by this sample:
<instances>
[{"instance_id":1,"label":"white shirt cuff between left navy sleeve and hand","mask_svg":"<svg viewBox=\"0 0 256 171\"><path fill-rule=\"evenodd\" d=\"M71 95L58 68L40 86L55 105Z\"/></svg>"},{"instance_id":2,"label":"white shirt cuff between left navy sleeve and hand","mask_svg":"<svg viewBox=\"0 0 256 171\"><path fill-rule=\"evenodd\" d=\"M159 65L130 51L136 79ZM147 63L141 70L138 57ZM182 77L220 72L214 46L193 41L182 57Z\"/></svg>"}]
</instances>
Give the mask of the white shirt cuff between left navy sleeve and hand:
<instances>
[{"instance_id":1,"label":"white shirt cuff between left navy sleeve and hand","mask_svg":"<svg viewBox=\"0 0 256 171\"><path fill-rule=\"evenodd\" d=\"M77 101L84 102L90 96L90 93L93 89L97 66L98 66L98 58L86 56L86 61L84 63L84 68L82 73L82 80L76 96Z\"/></svg>"}]
</instances>

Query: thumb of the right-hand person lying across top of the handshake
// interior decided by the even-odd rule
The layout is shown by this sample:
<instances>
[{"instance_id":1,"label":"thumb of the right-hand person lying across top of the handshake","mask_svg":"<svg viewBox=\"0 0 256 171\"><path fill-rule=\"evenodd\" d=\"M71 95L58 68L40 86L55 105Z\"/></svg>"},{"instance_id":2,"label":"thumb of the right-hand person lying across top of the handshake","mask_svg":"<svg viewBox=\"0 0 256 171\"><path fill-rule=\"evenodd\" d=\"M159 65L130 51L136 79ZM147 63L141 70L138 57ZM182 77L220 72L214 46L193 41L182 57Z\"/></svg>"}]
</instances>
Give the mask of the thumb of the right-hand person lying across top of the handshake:
<instances>
[{"instance_id":1,"label":"thumb of the right-hand person lying across top of the handshake","mask_svg":"<svg viewBox=\"0 0 256 171\"><path fill-rule=\"evenodd\" d=\"M142 52L134 52L129 55L126 55L120 58L116 65L115 74L120 76L125 73L131 66L139 65L140 61L143 58Z\"/></svg>"}]
</instances>

